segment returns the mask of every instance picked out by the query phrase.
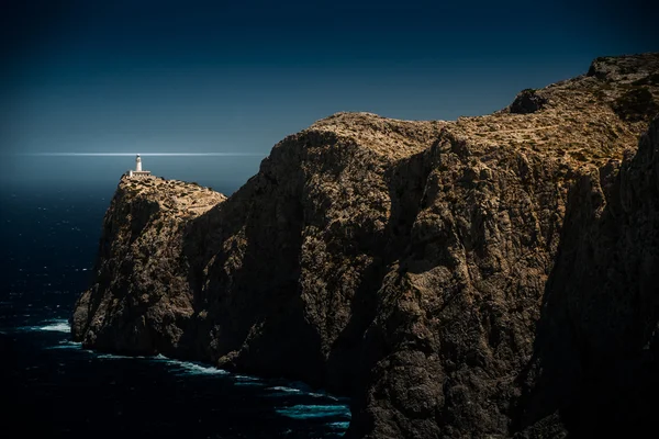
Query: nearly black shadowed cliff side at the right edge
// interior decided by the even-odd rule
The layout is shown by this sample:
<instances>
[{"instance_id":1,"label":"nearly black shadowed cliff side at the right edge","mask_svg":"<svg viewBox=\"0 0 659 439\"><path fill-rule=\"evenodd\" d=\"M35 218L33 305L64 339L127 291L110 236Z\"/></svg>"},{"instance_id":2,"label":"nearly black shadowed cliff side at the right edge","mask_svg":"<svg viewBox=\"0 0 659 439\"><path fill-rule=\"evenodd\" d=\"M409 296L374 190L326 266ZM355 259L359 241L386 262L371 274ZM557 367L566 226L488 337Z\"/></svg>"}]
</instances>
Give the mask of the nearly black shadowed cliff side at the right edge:
<instances>
[{"instance_id":1,"label":"nearly black shadowed cliff side at the right edge","mask_svg":"<svg viewBox=\"0 0 659 439\"><path fill-rule=\"evenodd\" d=\"M659 119L638 150L570 191L520 402L525 436L656 431L659 391Z\"/></svg>"}]
</instances>

